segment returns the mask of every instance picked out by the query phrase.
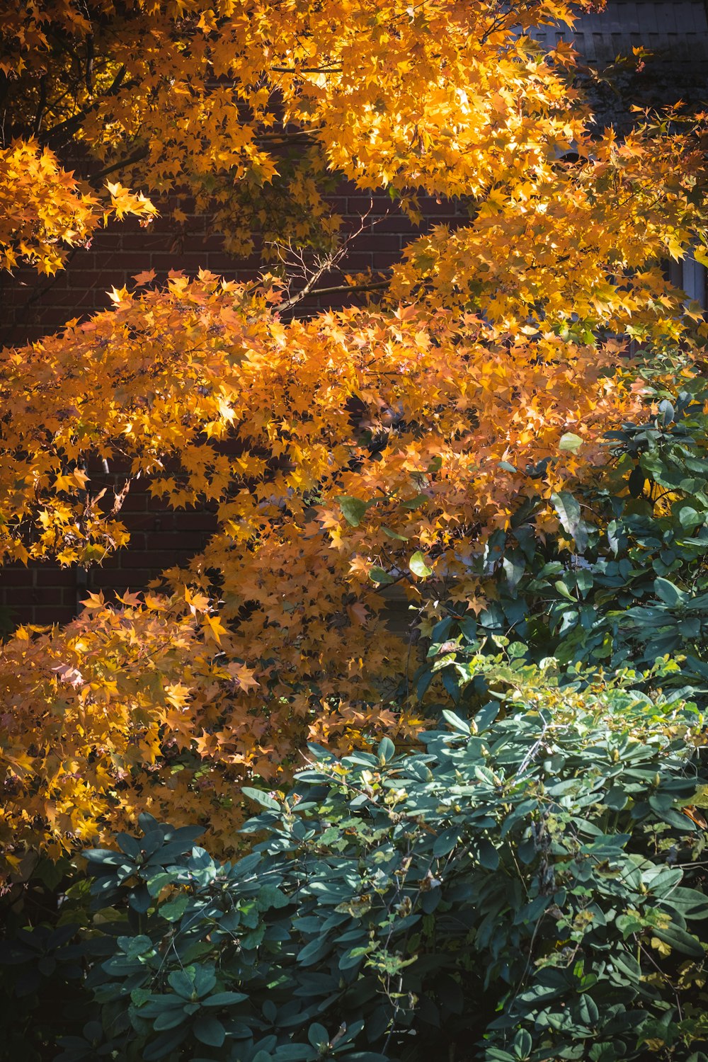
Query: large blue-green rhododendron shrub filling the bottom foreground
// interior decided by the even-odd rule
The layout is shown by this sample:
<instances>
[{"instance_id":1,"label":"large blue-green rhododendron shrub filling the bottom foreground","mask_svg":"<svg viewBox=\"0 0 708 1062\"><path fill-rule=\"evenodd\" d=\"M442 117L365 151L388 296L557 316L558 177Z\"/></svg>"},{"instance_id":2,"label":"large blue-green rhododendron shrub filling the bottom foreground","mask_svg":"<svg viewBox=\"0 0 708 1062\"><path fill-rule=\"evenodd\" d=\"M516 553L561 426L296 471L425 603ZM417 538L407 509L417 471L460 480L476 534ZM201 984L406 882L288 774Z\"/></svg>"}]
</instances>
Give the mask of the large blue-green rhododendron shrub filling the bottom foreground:
<instances>
[{"instance_id":1,"label":"large blue-green rhododendron shrub filling the bottom foreground","mask_svg":"<svg viewBox=\"0 0 708 1062\"><path fill-rule=\"evenodd\" d=\"M88 852L111 955L63 1062L705 1062L703 716L514 652L419 751L248 790L235 864L150 816Z\"/></svg>"}]
</instances>

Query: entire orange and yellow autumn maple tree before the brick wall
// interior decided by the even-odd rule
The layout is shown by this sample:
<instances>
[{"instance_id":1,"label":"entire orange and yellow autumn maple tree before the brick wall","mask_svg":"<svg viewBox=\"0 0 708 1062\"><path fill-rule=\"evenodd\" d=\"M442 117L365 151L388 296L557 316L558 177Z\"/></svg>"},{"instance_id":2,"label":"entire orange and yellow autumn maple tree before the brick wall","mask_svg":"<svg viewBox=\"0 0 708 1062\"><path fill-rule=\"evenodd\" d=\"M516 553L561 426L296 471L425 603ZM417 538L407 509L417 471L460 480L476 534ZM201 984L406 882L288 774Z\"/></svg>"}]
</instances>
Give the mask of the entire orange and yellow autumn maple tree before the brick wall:
<instances>
[{"instance_id":1,"label":"entire orange and yellow autumn maple tree before the brick wall","mask_svg":"<svg viewBox=\"0 0 708 1062\"><path fill-rule=\"evenodd\" d=\"M330 181L387 188L412 216L420 191L469 203L469 223L414 240L363 309L293 321L287 277L145 274L113 310L3 354L4 560L87 565L128 546L137 477L218 514L161 593L94 597L66 629L6 645L11 860L136 808L202 817L227 847L244 772L277 784L308 736L412 735L425 638L450 614L473 623L495 534L532 499L535 533L557 531L553 497L594 475L604 432L641 404L628 341L703 346L660 268L705 246L701 119L598 134L572 51L526 32L558 18L572 22L565 0L5 17L5 151L32 129L27 150L73 153L89 182L120 169L163 209L188 195L235 250L255 232L336 247ZM31 255L8 218L6 246ZM391 587L408 646L382 619Z\"/></svg>"}]
</instances>

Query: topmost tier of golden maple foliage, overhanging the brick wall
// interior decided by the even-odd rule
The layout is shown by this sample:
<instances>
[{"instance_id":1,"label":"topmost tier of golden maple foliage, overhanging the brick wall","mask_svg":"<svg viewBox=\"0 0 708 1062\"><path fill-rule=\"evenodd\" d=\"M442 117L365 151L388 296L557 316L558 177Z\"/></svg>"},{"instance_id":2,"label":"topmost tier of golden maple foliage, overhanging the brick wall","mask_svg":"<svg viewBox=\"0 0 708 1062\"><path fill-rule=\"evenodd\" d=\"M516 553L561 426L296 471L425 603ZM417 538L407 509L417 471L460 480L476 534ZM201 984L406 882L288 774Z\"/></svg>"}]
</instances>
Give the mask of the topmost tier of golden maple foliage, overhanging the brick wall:
<instances>
[{"instance_id":1,"label":"topmost tier of golden maple foliage, overhanging the brick wall","mask_svg":"<svg viewBox=\"0 0 708 1062\"><path fill-rule=\"evenodd\" d=\"M521 203L543 202L558 157L588 143L569 50L543 54L524 33L553 20L570 23L571 5L6 3L0 149L23 184L56 198L65 244L103 217L90 189L108 177L177 224L189 200L236 252L255 232L331 251L340 219L323 193L344 177L413 216L419 190L472 213L498 210L517 185ZM67 194L83 218L73 226ZM18 254L34 252L16 241L8 264Z\"/></svg>"}]
</instances>

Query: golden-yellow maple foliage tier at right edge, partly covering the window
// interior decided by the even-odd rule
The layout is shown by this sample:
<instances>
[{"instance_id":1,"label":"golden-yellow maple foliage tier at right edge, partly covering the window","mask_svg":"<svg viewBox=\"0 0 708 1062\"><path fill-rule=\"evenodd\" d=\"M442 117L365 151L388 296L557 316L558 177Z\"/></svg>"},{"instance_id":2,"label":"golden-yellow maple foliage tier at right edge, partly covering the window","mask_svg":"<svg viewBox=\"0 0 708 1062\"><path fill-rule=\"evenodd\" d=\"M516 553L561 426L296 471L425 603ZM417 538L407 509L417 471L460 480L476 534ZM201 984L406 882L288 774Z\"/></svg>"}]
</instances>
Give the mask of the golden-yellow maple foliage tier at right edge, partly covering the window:
<instances>
[{"instance_id":1,"label":"golden-yellow maple foliage tier at right edge, partly covering the window","mask_svg":"<svg viewBox=\"0 0 708 1062\"><path fill-rule=\"evenodd\" d=\"M649 122L621 142L611 129L586 135L573 161L490 190L468 225L409 244L392 293L471 303L513 332L556 327L590 339L601 328L679 342L685 296L663 263L689 250L706 261L705 164L685 129L656 133Z\"/></svg>"}]
</instances>

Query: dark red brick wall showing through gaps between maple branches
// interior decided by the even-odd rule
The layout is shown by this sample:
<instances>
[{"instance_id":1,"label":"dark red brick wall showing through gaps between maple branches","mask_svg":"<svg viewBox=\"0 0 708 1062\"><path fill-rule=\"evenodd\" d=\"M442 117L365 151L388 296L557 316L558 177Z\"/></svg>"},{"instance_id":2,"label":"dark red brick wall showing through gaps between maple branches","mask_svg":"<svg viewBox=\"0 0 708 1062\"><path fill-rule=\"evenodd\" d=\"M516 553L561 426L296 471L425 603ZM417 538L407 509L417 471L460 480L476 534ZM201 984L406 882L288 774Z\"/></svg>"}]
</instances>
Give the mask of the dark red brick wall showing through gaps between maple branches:
<instances>
[{"instance_id":1,"label":"dark red brick wall showing through gaps between maple branches","mask_svg":"<svg viewBox=\"0 0 708 1062\"><path fill-rule=\"evenodd\" d=\"M332 206L352 229L359 227L360 217L370 205L370 198L353 188L343 189L332 200ZM385 270L420 232L442 223L453 227L465 219L461 205L429 199L424 202L424 225L416 228L393 211L386 216L391 207L387 196L374 198L367 221L377 223L352 244L343 263L347 272ZM191 219L188 232L182 235L166 219L158 219L150 229L124 223L98 233L90 249L76 251L67 271L54 278L38 279L28 269L2 277L0 346L39 339L72 318L89 316L109 305L107 289L129 286L135 274L150 269L158 278L169 270L194 275L200 269L208 269L228 279L249 280L258 275L259 260L254 257L236 261L225 255L220 239L206 232L204 219ZM339 281L336 276L323 277L321 287ZM349 303L356 298L350 296ZM309 308L316 305L310 303ZM341 296L325 305L342 305ZM144 483L131 489L122 516L131 532L131 544L101 567L85 572L47 563L0 570L0 626L66 622L76 614L86 589L103 589L106 596L116 590L143 589L165 568L184 564L197 553L213 528L213 515L208 511L168 510L150 497Z\"/></svg>"}]
</instances>

